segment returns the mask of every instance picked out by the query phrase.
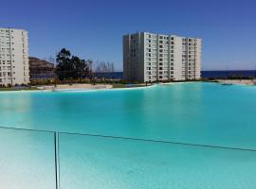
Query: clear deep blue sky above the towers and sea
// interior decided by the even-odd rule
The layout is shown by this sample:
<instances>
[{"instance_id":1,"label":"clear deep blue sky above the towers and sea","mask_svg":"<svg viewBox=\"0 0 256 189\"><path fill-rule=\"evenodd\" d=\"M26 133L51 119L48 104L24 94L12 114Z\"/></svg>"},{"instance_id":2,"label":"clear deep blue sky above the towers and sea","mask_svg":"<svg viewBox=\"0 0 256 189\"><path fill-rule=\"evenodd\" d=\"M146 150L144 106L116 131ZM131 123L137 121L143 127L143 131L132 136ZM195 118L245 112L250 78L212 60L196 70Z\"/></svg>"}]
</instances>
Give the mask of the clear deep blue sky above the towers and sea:
<instances>
[{"instance_id":1,"label":"clear deep blue sky above the towers and sea","mask_svg":"<svg viewBox=\"0 0 256 189\"><path fill-rule=\"evenodd\" d=\"M48 58L66 47L121 70L122 35L150 31L202 38L204 70L256 66L253 0L12 0L1 7L0 27L27 29L30 56Z\"/></svg>"}]
</instances>

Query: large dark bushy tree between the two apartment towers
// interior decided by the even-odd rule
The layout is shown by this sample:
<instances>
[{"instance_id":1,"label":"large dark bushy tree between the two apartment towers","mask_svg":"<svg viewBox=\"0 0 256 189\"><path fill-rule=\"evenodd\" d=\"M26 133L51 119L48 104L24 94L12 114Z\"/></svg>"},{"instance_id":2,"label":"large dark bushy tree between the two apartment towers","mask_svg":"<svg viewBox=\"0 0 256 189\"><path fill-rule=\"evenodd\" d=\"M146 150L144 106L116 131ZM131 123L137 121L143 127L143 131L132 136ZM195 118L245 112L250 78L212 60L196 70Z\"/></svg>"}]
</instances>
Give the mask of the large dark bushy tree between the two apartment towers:
<instances>
[{"instance_id":1,"label":"large dark bushy tree between the two apartment towers","mask_svg":"<svg viewBox=\"0 0 256 189\"><path fill-rule=\"evenodd\" d=\"M65 48L58 53L56 61L56 75L60 80L84 78L91 73L90 66L85 60L71 56L70 51Z\"/></svg>"}]
</instances>

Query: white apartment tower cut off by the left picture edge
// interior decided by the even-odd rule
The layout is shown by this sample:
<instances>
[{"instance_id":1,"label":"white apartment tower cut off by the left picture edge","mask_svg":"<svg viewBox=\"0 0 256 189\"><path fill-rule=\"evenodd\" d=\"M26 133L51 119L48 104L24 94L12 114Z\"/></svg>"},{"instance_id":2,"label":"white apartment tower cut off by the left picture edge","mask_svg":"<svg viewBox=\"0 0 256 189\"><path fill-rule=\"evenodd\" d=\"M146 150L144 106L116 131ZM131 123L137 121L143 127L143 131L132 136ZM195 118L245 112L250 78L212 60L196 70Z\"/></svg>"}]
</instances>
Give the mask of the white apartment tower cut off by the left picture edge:
<instances>
[{"instance_id":1,"label":"white apartment tower cut off by the left picture edge","mask_svg":"<svg viewBox=\"0 0 256 189\"><path fill-rule=\"evenodd\" d=\"M28 82L27 31L0 28L0 85Z\"/></svg>"}]
</instances>

